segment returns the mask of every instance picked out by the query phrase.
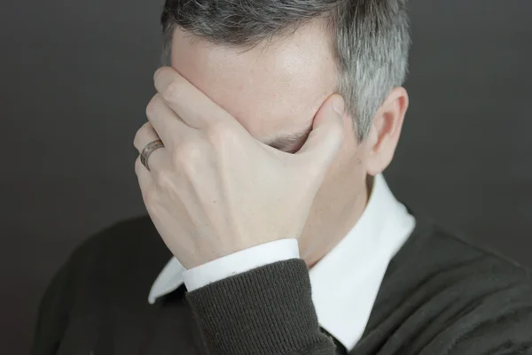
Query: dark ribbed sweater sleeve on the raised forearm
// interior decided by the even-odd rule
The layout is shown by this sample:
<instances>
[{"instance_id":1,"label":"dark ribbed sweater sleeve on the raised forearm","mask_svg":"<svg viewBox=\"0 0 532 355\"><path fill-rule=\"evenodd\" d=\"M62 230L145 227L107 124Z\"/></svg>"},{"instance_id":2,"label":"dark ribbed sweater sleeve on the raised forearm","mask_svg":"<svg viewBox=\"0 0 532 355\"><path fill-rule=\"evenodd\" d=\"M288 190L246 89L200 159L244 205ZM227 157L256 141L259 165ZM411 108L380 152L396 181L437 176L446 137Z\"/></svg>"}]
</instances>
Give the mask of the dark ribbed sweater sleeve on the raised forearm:
<instances>
[{"instance_id":1,"label":"dark ribbed sweater sleeve on the raised forearm","mask_svg":"<svg viewBox=\"0 0 532 355\"><path fill-rule=\"evenodd\" d=\"M213 355L333 355L320 331L309 271L288 259L186 294Z\"/></svg>"}]
</instances>

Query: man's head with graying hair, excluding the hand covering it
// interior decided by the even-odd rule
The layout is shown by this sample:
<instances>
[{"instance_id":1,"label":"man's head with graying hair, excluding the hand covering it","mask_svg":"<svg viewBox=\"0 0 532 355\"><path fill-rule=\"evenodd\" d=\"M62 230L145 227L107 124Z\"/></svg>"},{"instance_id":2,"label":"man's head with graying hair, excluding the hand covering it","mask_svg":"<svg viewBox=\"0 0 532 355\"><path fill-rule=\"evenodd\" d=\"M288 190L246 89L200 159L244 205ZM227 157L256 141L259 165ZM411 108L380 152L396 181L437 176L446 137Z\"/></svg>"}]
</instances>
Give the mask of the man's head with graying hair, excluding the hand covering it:
<instances>
[{"instance_id":1,"label":"man's head with graying hair, excluding the hand covering it","mask_svg":"<svg viewBox=\"0 0 532 355\"><path fill-rule=\"evenodd\" d=\"M164 65L256 139L290 152L301 148L325 99L344 97L353 135L315 199L309 220L319 229L356 213L366 175L394 155L408 107L405 1L167 0Z\"/></svg>"}]
</instances>

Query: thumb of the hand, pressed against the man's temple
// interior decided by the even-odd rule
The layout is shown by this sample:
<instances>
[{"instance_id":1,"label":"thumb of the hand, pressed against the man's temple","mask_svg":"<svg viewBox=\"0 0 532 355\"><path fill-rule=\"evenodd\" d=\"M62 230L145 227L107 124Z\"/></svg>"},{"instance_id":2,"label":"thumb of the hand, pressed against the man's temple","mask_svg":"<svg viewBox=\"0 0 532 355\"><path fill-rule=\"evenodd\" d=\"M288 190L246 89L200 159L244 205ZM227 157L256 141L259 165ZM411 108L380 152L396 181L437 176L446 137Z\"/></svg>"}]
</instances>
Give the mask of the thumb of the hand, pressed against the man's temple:
<instances>
[{"instance_id":1,"label":"thumb of the hand, pressed against the man's temple","mask_svg":"<svg viewBox=\"0 0 532 355\"><path fill-rule=\"evenodd\" d=\"M337 112L334 107L338 109ZM343 97L329 96L314 116L312 130L305 144L295 155L306 156L311 164L325 174L340 150L344 139L342 115L345 108Z\"/></svg>"}]
</instances>

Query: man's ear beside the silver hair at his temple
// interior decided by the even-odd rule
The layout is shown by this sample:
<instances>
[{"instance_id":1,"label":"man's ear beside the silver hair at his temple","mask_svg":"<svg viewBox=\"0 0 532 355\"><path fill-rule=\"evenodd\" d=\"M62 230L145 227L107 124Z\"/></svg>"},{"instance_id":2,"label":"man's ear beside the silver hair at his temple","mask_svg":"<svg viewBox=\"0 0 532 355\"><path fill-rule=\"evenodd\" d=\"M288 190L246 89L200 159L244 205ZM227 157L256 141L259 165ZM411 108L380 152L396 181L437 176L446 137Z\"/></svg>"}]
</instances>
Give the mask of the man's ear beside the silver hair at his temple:
<instances>
[{"instance_id":1,"label":"man's ear beside the silver hair at his temple","mask_svg":"<svg viewBox=\"0 0 532 355\"><path fill-rule=\"evenodd\" d=\"M394 158L409 98L406 89L395 88L387 96L372 120L367 136L367 174L380 174Z\"/></svg>"}]
</instances>

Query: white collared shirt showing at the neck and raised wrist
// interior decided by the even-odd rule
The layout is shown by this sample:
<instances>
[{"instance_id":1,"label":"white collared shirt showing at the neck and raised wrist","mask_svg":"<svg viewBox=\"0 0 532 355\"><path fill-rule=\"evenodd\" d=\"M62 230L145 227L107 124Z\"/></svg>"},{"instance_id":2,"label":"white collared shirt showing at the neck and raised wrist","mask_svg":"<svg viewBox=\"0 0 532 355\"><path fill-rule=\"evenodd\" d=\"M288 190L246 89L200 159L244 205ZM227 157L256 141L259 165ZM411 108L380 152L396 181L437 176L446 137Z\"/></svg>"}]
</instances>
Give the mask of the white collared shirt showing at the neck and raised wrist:
<instances>
[{"instance_id":1,"label":"white collared shirt showing at the neck and raised wrist","mask_svg":"<svg viewBox=\"0 0 532 355\"><path fill-rule=\"evenodd\" d=\"M351 351L364 333L390 259L411 235L415 220L382 174L375 176L364 212L332 251L309 270L319 325ZM153 283L148 301L185 284L188 291L276 261L300 258L296 239L238 251L185 270L170 259Z\"/></svg>"}]
</instances>

